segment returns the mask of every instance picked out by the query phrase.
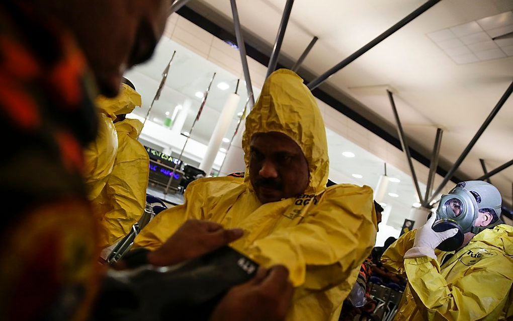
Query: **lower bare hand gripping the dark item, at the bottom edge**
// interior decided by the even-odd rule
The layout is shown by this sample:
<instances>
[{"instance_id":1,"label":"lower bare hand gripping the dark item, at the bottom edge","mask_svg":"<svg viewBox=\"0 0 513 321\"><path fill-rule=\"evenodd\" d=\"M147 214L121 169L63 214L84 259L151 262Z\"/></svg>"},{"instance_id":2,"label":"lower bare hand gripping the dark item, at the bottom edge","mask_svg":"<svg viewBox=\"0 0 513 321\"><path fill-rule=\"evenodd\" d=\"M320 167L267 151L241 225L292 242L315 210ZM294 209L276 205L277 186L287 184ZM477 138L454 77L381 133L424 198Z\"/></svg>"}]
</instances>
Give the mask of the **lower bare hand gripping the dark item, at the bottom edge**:
<instances>
[{"instance_id":1,"label":"lower bare hand gripping the dark item, at the bottom edge","mask_svg":"<svg viewBox=\"0 0 513 321\"><path fill-rule=\"evenodd\" d=\"M233 287L214 309L210 321L280 321L292 299L288 270L283 266L260 267L257 275Z\"/></svg>"}]
</instances>

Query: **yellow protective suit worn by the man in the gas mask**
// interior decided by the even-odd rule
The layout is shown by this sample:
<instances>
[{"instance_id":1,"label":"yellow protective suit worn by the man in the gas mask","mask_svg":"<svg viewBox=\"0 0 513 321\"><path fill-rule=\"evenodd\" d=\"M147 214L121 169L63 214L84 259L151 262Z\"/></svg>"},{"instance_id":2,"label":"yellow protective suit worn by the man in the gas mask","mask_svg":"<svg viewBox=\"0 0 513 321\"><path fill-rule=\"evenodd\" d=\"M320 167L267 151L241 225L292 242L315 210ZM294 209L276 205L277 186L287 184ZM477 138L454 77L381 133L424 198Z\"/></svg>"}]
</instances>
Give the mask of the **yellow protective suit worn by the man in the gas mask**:
<instances>
[{"instance_id":1,"label":"yellow protective suit worn by the man in the gas mask","mask_svg":"<svg viewBox=\"0 0 513 321\"><path fill-rule=\"evenodd\" d=\"M382 256L392 272L408 277L408 286L394 320L510 320L513 319L513 226L484 230L444 265L438 259L404 259L416 230L401 236Z\"/></svg>"}]
</instances>

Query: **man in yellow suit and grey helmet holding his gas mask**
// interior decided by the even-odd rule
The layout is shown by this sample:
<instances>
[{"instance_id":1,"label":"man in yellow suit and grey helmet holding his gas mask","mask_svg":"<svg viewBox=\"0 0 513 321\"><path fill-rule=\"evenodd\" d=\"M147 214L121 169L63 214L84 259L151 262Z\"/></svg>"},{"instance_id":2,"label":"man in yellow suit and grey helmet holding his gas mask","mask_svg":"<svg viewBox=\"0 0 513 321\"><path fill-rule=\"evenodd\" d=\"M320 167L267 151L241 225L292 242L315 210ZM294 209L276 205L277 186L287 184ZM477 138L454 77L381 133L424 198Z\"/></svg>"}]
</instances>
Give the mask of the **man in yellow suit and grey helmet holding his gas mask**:
<instances>
[{"instance_id":1,"label":"man in yellow suit and grey helmet holding his gas mask","mask_svg":"<svg viewBox=\"0 0 513 321\"><path fill-rule=\"evenodd\" d=\"M513 226L500 213L495 186L461 182L425 225L385 251L384 265L408 277L395 320L513 317Z\"/></svg>"}]
</instances>

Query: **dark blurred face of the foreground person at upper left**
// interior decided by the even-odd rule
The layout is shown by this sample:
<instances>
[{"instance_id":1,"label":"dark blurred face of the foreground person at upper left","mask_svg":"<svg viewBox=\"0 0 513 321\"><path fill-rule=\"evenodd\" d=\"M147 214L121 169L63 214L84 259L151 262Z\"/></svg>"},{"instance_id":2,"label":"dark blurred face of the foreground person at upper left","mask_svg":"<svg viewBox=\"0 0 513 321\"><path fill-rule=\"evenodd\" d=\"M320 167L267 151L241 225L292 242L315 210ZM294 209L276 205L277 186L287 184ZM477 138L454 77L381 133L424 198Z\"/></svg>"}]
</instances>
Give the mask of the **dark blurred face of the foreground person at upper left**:
<instances>
[{"instance_id":1,"label":"dark blurred face of the foreground person at upper left","mask_svg":"<svg viewBox=\"0 0 513 321\"><path fill-rule=\"evenodd\" d=\"M100 92L113 97L123 73L150 58L164 32L170 4L170 0L74 0L57 10L82 47Z\"/></svg>"}]
</instances>

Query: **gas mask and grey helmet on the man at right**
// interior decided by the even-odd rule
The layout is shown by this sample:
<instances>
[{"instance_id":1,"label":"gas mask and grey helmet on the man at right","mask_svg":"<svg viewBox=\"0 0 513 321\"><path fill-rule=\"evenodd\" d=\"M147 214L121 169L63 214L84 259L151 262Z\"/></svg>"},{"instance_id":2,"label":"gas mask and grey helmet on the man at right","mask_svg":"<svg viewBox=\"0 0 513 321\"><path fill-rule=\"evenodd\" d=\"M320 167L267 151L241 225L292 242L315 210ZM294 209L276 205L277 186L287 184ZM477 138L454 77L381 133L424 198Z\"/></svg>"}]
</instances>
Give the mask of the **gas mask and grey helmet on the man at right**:
<instances>
[{"instance_id":1,"label":"gas mask and grey helmet on the man at right","mask_svg":"<svg viewBox=\"0 0 513 321\"><path fill-rule=\"evenodd\" d=\"M458 183L449 194L442 195L437 209L437 220L432 226L435 232L456 228L458 233L440 243L437 249L446 252L455 251L462 246L465 233L478 234L484 229L502 223L497 219L496 222L487 226L474 226L479 212L490 212L494 217L499 218L501 204L501 194L494 185L483 181Z\"/></svg>"}]
</instances>

